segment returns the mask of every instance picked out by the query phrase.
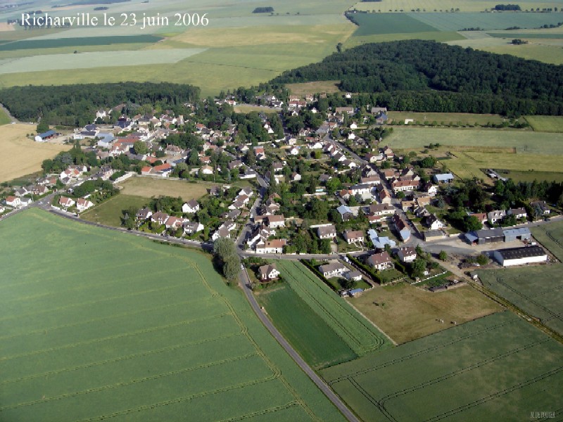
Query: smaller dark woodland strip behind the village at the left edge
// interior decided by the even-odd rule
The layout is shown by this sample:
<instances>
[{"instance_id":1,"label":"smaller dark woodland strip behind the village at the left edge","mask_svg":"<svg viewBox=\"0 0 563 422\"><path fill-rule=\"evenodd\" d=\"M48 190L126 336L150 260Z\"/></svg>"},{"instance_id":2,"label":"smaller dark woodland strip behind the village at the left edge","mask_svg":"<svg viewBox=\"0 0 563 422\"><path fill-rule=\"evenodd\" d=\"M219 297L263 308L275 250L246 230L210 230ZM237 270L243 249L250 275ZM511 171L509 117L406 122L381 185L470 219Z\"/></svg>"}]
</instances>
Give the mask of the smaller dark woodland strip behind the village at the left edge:
<instances>
[{"instance_id":1,"label":"smaller dark woodland strip behind the village at the left edge","mask_svg":"<svg viewBox=\"0 0 563 422\"><path fill-rule=\"evenodd\" d=\"M94 121L96 110L119 104L160 104L163 109L198 99L191 85L151 82L76 84L59 87L11 87L0 90L0 103L18 120L80 127Z\"/></svg>"}]
</instances>

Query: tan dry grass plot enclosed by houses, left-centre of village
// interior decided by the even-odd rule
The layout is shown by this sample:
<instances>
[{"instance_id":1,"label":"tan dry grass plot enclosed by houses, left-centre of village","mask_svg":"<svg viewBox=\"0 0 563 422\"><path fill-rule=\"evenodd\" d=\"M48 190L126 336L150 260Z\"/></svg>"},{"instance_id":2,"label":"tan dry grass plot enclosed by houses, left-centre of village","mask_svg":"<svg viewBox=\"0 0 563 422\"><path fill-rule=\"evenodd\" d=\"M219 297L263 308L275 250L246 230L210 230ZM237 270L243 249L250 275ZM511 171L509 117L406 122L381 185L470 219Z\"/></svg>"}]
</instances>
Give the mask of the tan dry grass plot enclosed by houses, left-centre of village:
<instances>
[{"instance_id":1,"label":"tan dry grass plot enclosed by houses, left-centre of village","mask_svg":"<svg viewBox=\"0 0 563 422\"><path fill-rule=\"evenodd\" d=\"M122 187L121 193L132 196L143 196L153 198L158 196L178 196L183 200L201 198L208 189L215 184L205 181L189 183L182 180L156 179L154 177L129 177L129 179L118 184Z\"/></svg>"}]
</instances>

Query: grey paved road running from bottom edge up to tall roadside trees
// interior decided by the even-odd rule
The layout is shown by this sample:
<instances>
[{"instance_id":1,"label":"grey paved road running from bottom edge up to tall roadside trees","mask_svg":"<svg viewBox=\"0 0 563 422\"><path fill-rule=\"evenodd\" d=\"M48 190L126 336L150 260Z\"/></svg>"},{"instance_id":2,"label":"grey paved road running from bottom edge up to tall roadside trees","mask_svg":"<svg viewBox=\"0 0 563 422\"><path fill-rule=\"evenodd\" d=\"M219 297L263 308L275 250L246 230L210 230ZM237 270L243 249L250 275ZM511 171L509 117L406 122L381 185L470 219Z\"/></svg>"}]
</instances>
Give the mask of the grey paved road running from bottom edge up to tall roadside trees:
<instances>
[{"instance_id":1,"label":"grey paved road running from bottom edge up to tall roadside trees","mask_svg":"<svg viewBox=\"0 0 563 422\"><path fill-rule=\"evenodd\" d=\"M296 352L295 349L291 347L291 345L287 342L284 336L281 335L279 331L277 331L277 328L274 327L270 319L268 319L267 316L265 316L264 312L262 312L262 309L260 309L258 302L256 302L251 289L248 287L250 286L250 283L251 281L250 279L248 279L248 273L246 272L246 268L245 268L243 271L241 271L239 284L243 289L244 294L246 295L246 299L248 300L248 302L250 302L251 307L254 310L255 314L258 315L258 318L260 319L260 321L262 321L262 324L265 325L268 331L270 331L270 334L274 336L274 338L278 341L281 347L284 347L284 349L289 354L289 356L291 356L291 358L296 362L296 364L298 364L299 367L303 369L303 372L305 372L307 376L311 378L312 382L315 383L322 392L324 392L324 395L326 395L329 398L329 400L334 404L334 406L336 406L336 408L342 412L342 414L348 419L348 421L360 422L358 418L356 418L354 414L350 411L350 409L346 407L346 404L344 404L342 400L334 393L334 391L331 390L331 388L327 385L327 383L325 383L322 380L322 378L320 378L320 376L318 376L317 373L315 373L315 371L311 369L311 367L301 358L301 356L299 356L298 352Z\"/></svg>"}]
</instances>

